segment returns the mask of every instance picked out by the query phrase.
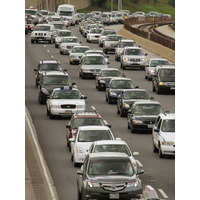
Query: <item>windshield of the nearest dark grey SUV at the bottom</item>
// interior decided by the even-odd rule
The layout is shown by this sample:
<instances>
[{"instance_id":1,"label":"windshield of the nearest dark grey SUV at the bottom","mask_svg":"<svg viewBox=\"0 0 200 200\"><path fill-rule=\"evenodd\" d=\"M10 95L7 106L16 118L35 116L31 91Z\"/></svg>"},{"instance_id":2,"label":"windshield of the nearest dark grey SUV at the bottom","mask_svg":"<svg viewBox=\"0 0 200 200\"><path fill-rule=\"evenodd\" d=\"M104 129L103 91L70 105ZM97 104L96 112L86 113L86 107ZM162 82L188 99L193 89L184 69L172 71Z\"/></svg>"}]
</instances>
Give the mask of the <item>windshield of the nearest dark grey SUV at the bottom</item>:
<instances>
[{"instance_id":1,"label":"windshield of the nearest dark grey SUV at the bottom","mask_svg":"<svg viewBox=\"0 0 200 200\"><path fill-rule=\"evenodd\" d=\"M130 160L121 158L98 158L91 159L88 167L88 174L93 176L133 176L134 169Z\"/></svg>"}]
</instances>

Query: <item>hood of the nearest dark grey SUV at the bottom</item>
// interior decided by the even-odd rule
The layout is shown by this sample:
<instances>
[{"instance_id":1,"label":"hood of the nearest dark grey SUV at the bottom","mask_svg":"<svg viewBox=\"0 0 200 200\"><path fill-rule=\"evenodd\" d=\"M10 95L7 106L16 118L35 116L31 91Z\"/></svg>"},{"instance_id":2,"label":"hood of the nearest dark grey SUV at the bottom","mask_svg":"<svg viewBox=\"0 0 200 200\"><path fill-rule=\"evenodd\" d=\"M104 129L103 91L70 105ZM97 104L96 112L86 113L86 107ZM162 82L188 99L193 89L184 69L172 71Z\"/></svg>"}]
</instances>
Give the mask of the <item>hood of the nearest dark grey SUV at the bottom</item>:
<instances>
[{"instance_id":1,"label":"hood of the nearest dark grey SUV at the bottom","mask_svg":"<svg viewBox=\"0 0 200 200\"><path fill-rule=\"evenodd\" d=\"M91 181L99 182L99 183L124 183L131 182L136 179L136 176L123 176L123 175L104 175L104 176L90 176Z\"/></svg>"}]
</instances>

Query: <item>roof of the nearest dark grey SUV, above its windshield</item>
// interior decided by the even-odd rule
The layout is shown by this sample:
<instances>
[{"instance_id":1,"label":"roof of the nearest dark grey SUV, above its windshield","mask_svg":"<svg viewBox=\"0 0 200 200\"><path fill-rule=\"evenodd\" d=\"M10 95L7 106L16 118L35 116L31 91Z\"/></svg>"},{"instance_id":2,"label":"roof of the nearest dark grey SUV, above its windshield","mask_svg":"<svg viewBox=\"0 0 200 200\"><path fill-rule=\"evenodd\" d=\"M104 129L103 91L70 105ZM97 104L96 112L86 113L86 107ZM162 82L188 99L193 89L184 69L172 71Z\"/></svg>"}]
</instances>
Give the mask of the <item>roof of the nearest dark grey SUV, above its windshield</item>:
<instances>
[{"instance_id":1,"label":"roof of the nearest dark grey SUV, above its windshield","mask_svg":"<svg viewBox=\"0 0 200 200\"><path fill-rule=\"evenodd\" d=\"M98 153L90 153L90 158L128 158L129 156L125 153L121 152L98 152Z\"/></svg>"}]
</instances>

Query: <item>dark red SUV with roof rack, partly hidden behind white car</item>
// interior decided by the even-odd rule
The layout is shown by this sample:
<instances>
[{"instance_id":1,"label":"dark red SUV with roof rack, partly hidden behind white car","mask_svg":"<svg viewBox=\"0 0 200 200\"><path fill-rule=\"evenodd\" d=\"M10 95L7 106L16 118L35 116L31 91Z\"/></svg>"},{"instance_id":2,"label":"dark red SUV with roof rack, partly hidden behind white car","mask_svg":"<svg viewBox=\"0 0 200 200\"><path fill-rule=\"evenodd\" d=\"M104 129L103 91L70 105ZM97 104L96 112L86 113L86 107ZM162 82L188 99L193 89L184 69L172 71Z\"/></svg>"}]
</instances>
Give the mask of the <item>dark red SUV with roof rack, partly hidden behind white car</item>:
<instances>
[{"instance_id":1,"label":"dark red SUV with roof rack, partly hidden behind white car","mask_svg":"<svg viewBox=\"0 0 200 200\"><path fill-rule=\"evenodd\" d=\"M68 129L66 139L69 151L71 151L69 139L74 137L74 134L76 133L76 130L79 126L108 126L109 128L111 127L111 125L108 125L107 122L102 119L102 117L96 112L96 110L74 113L69 124L66 125L66 128Z\"/></svg>"}]
</instances>

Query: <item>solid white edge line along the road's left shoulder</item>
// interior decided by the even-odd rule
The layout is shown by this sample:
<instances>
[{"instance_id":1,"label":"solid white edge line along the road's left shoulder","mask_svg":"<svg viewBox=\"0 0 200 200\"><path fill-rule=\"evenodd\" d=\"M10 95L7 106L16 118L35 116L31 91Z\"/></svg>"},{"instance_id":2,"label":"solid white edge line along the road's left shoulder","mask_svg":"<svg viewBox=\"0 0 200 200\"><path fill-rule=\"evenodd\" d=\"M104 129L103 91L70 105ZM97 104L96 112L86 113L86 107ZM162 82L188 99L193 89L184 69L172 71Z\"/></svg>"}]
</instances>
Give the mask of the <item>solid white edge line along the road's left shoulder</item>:
<instances>
[{"instance_id":1,"label":"solid white edge line along the road's left shoulder","mask_svg":"<svg viewBox=\"0 0 200 200\"><path fill-rule=\"evenodd\" d=\"M42 165L42 169L43 169L43 172L44 172L44 176L45 176L45 178L46 178L46 181L47 181L47 185L48 185L48 187L49 187L49 191L50 191L50 193L51 193L51 197L52 197L52 199L56 199L56 195L55 195L55 193L54 193L53 186L51 185L51 182L50 182L50 179L49 179L47 170L46 170L46 166L45 166L45 164L44 164L44 160L43 160L43 157L42 157L41 152L40 152L40 148L39 148L38 142L37 142L36 137L35 137L35 135L34 135L34 133L33 133L33 129L32 129L30 120L29 120L29 118L28 118L28 116L27 116L27 111L25 112L25 117L26 117L25 119L26 119L26 121L27 121L27 123L28 123L28 126L29 126L29 128L30 128L31 136L32 136L33 142L34 142L34 144L35 144L35 147L36 147L36 150L37 150L39 159L40 159L40 163L41 163L41 165Z\"/></svg>"}]
</instances>

